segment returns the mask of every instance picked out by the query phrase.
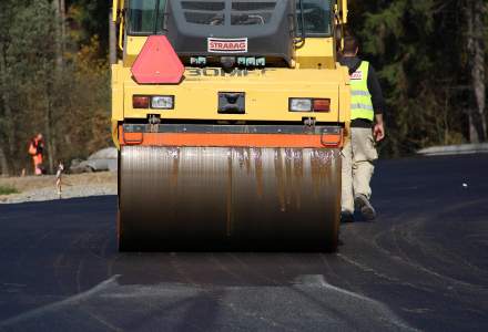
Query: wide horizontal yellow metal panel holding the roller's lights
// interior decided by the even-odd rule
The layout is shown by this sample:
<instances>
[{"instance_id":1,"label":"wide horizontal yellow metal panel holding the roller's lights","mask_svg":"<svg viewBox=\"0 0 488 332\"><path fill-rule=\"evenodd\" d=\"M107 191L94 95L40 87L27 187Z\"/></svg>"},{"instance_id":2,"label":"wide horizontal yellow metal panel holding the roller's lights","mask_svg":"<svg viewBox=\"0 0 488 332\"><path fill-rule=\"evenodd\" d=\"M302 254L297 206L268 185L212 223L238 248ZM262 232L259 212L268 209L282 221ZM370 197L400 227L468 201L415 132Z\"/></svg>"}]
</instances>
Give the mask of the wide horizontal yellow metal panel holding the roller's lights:
<instances>
[{"instance_id":1,"label":"wide horizontal yellow metal panel holding the roller's lights","mask_svg":"<svg viewBox=\"0 0 488 332\"><path fill-rule=\"evenodd\" d=\"M171 120L242 120L242 121L302 121L313 116L318 122L347 121L349 104L347 72L338 70L274 69L247 73L222 74L220 69L187 69L179 85L139 85L129 69L123 72L125 118L145 118L148 114L161 114ZM120 84L121 82L119 82ZM244 92L246 114L217 114L218 92ZM132 95L174 95L175 108L133 110ZM345 96L347 95L347 96ZM331 113L288 112L288 97L328 97ZM113 118L120 118L114 113Z\"/></svg>"}]
</instances>

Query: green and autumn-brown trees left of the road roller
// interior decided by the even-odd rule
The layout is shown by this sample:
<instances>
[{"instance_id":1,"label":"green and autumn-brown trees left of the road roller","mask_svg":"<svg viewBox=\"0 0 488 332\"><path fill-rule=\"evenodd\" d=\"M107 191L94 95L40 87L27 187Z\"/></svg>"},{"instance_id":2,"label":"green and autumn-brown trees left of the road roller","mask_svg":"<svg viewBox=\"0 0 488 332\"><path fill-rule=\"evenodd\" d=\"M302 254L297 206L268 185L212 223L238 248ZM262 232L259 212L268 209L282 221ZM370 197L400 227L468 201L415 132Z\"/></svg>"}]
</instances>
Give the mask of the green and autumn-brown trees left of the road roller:
<instances>
[{"instance_id":1,"label":"green and autumn-brown trees left of the road roller","mask_svg":"<svg viewBox=\"0 0 488 332\"><path fill-rule=\"evenodd\" d=\"M67 3L68 13L90 15ZM10 169L32 168L27 147L35 133L47 141L48 169L110 145L110 74L98 35L68 17L63 37L51 0L0 6L0 144L10 143L1 146Z\"/></svg>"}]
</instances>

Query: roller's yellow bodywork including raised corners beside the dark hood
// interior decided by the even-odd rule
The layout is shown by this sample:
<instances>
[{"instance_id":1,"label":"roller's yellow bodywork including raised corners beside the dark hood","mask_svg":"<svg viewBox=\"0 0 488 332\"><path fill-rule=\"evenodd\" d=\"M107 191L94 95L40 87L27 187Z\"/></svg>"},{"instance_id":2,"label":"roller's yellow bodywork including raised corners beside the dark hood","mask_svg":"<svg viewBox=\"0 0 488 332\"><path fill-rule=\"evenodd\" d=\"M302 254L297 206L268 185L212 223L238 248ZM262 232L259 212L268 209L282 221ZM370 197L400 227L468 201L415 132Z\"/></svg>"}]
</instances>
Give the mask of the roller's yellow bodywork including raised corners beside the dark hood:
<instances>
[{"instance_id":1,"label":"roller's yellow bodywork including raised corners beside the dark hood","mask_svg":"<svg viewBox=\"0 0 488 332\"><path fill-rule=\"evenodd\" d=\"M350 117L349 74L335 62L332 38L307 39L296 51L294 69L270 68L235 70L225 73L220 68L186 68L179 85L142 85L131 74L131 65L146 38L128 38L124 59L112 65L113 141L119 145L118 124L125 118L146 118L159 114L167 120L215 121L286 121L302 122L313 117L316 123L339 123L348 127ZM299 62L298 62L299 61ZM220 91L246 94L245 114L217 114ZM174 110L136 110L133 95L174 95ZM331 98L331 112L289 112L289 97ZM345 131L347 133L347 131Z\"/></svg>"}]
</instances>

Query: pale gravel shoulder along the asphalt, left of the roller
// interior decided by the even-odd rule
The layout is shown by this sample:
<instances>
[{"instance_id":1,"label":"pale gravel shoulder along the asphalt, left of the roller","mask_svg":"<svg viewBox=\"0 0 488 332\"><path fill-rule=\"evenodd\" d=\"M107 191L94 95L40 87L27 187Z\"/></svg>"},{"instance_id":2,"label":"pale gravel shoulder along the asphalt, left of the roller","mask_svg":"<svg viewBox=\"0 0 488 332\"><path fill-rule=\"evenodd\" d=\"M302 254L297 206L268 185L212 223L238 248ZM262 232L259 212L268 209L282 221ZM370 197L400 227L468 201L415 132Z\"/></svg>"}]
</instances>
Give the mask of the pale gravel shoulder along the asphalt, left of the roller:
<instances>
[{"instance_id":1,"label":"pale gravel shoulder along the asphalt, left of the roller","mask_svg":"<svg viewBox=\"0 0 488 332\"><path fill-rule=\"evenodd\" d=\"M11 187L19 191L19 194L0 195L0 204L116 195L116 173L63 175L61 196L58 195L53 175L0 178L0 187Z\"/></svg>"}]
</instances>

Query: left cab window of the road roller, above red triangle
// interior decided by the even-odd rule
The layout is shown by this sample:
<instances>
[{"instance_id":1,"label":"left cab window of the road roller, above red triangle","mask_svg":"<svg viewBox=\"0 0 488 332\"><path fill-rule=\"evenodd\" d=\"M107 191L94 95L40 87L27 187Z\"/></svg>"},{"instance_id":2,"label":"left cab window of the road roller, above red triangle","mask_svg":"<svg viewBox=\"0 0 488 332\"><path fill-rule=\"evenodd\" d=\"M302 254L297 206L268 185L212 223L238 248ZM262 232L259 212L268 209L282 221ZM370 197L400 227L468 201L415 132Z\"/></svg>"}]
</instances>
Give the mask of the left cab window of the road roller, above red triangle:
<instances>
[{"instance_id":1,"label":"left cab window of the road roller, above red triangle","mask_svg":"<svg viewBox=\"0 0 488 332\"><path fill-rule=\"evenodd\" d=\"M149 35L163 32L166 0L130 0L129 34Z\"/></svg>"}]
</instances>

